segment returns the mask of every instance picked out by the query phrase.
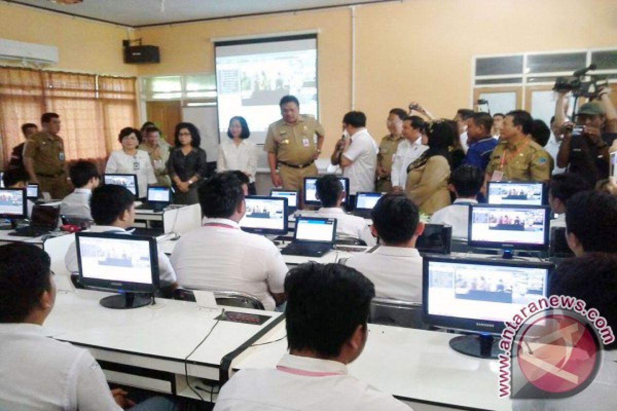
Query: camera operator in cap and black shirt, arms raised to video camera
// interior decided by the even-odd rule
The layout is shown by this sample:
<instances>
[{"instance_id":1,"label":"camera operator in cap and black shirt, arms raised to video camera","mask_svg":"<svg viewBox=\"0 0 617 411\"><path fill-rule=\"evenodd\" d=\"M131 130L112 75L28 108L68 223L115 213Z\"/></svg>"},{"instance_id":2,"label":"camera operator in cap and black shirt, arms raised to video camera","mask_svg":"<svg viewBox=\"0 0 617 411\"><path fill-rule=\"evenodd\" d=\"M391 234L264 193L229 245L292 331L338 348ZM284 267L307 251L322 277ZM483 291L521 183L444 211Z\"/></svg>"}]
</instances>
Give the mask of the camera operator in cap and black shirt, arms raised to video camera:
<instances>
[{"instance_id":1,"label":"camera operator in cap and black shirt, arms raised to video camera","mask_svg":"<svg viewBox=\"0 0 617 411\"><path fill-rule=\"evenodd\" d=\"M592 185L608 177L608 151L617 137L617 111L610 101L609 91L608 87L601 87L599 101L581 106L576 113L576 126L579 126L576 133L573 133L574 124L566 121L563 111L567 91L559 91L555 105L555 126L560 124L563 133L557 166L567 166L569 172L581 174Z\"/></svg>"}]
</instances>

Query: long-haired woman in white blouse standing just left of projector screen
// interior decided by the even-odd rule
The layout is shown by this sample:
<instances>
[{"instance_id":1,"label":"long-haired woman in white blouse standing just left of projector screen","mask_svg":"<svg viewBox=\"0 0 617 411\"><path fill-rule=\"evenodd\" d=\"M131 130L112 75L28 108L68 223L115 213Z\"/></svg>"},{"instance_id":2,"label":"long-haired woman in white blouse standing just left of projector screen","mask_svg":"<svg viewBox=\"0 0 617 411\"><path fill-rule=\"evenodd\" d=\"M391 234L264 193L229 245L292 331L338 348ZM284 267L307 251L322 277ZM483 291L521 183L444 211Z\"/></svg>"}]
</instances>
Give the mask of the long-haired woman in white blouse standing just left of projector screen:
<instances>
[{"instance_id":1,"label":"long-haired woman in white blouse standing just left of projector screen","mask_svg":"<svg viewBox=\"0 0 617 411\"><path fill-rule=\"evenodd\" d=\"M255 195L255 172L257 171L257 150L249 140L251 132L244 117L235 116L230 120L227 136L218 147L217 171L239 170L249 177L249 195Z\"/></svg>"}]
</instances>

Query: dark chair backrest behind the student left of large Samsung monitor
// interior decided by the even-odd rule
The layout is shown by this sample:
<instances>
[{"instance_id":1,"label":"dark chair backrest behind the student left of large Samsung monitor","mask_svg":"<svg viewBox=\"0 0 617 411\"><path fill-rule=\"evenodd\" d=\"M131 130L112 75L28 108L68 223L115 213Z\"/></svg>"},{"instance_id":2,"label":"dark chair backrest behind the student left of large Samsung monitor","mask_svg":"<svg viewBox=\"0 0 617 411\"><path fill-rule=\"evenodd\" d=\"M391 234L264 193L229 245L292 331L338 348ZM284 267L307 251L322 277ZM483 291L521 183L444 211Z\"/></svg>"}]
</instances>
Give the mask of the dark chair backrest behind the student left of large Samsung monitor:
<instances>
[{"instance_id":1,"label":"dark chair backrest behind the student left of large Samsung monitor","mask_svg":"<svg viewBox=\"0 0 617 411\"><path fill-rule=\"evenodd\" d=\"M396 325L397 327L428 327L422 322L422 304L398 299L373 298L368 322L371 324Z\"/></svg>"}]
</instances>

